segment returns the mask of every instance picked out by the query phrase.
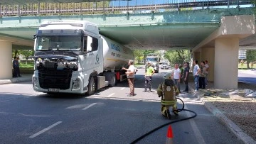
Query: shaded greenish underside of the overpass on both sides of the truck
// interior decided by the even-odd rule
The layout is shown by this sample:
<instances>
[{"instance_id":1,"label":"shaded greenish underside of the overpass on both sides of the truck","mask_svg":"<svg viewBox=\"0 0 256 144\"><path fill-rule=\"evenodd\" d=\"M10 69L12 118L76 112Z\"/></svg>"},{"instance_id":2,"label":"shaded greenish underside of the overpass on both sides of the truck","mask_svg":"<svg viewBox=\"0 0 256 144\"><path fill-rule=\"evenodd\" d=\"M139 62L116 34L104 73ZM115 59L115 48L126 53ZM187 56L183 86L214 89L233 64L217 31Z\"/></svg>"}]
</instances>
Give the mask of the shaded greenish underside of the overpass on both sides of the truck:
<instances>
[{"instance_id":1,"label":"shaded greenish underside of the overpass on both sides of the truck","mask_svg":"<svg viewBox=\"0 0 256 144\"><path fill-rule=\"evenodd\" d=\"M127 48L142 50L193 49L219 28L219 23L166 24L156 26L102 27L100 33L122 43ZM14 49L32 49L33 35L38 28L1 29L1 40L12 41ZM240 39L240 46L256 47L256 35ZM214 40L204 47L213 48Z\"/></svg>"}]
</instances>

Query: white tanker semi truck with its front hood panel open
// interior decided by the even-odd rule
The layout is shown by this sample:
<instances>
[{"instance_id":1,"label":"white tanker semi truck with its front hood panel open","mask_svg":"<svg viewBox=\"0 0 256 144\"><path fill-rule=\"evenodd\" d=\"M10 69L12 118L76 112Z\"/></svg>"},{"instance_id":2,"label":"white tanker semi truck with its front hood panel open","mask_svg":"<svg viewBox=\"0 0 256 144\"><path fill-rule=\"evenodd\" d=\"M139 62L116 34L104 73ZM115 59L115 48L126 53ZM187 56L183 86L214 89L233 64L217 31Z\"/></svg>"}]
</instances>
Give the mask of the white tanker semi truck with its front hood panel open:
<instances>
[{"instance_id":1,"label":"white tanker semi truck with its front hood panel open","mask_svg":"<svg viewBox=\"0 0 256 144\"><path fill-rule=\"evenodd\" d=\"M126 79L132 50L99 34L89 21L46 21L35 36L33 89L94 94Z\"/></svg>"}]
</instances>

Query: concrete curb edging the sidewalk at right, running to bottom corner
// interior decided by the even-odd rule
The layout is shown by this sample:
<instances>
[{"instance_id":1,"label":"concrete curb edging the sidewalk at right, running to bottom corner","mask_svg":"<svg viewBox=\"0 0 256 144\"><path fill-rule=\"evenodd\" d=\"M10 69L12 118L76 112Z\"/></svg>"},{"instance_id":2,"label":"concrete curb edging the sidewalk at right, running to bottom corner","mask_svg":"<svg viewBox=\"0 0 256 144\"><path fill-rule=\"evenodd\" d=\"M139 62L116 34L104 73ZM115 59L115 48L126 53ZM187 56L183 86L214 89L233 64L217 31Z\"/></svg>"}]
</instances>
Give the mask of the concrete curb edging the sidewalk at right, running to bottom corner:
<instances>
[{"instance_id":1,"label":"concrete curb edging the sidewalk at right, running to bottom corner","mask_svg":"<svg viewBox=\"0 0 256 144\"><path fill-rule=\"evenodd\" d=\"M193 92L193 89L191 89ZM199 101L203 102L203 105L210 111L210 113L213 113L214 116L216 116L225 126L232 131L236 137L238 137L242 142L245 144L254 144L256 143L255 140L253 140L249 135L244 133L241 128L239 128L233 121L231 121L227 116L225 116L218 108L213 106L210 102L206 101L205 99L200 97L200 93L196 92L193 94L197 97Z\"/></svg>"}]
</instances>

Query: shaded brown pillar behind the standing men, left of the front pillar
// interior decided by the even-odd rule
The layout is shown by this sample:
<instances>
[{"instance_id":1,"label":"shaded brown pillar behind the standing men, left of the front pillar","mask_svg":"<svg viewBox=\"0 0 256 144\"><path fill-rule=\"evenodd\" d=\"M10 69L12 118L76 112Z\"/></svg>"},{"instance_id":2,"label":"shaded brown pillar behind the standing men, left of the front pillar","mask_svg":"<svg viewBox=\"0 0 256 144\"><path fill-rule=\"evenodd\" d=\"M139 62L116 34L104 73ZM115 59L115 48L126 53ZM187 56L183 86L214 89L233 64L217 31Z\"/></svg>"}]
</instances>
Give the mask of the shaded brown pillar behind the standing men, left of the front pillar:
<instances>
[{"instance_id":1,"label":"shaded brown pillar behind the standing men, left of the front pillar","mask_svg":"<svg viewBox=\"0 0 256 144\"><path fill-rule=\"evenodd\" d=\"M208 71L208 81L214 81L214 48L202 48L201 49L201 61L208 60L209 71Z\"/></svg>"}]
</instances>

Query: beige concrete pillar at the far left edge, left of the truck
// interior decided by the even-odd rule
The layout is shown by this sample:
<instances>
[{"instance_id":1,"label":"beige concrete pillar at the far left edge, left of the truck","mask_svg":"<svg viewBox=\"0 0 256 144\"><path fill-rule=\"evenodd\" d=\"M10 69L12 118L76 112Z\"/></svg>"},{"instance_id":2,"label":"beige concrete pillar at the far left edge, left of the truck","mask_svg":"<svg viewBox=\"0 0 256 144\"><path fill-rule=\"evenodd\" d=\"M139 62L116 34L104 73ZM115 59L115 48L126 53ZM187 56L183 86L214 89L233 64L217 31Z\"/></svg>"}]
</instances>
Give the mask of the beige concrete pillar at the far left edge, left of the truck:
<instances>
[{"instance_id":1,"label":"beige concrete pillar at the far left edge, left of the truck","mask_svg":"<svg viewBox=\"0 0 256 144\"><path fill-rule=\"evenodd\" d=\"M0 40L0 79L12 77L12 44L9 41Z\"/></svg>"}]
</instances>

